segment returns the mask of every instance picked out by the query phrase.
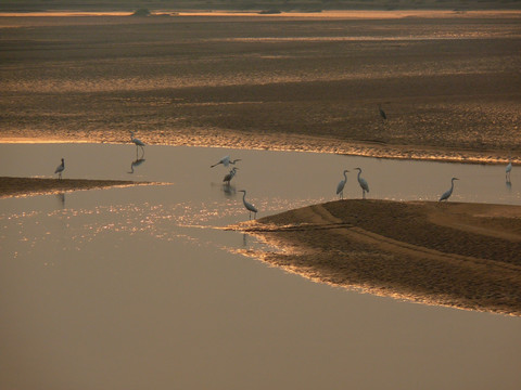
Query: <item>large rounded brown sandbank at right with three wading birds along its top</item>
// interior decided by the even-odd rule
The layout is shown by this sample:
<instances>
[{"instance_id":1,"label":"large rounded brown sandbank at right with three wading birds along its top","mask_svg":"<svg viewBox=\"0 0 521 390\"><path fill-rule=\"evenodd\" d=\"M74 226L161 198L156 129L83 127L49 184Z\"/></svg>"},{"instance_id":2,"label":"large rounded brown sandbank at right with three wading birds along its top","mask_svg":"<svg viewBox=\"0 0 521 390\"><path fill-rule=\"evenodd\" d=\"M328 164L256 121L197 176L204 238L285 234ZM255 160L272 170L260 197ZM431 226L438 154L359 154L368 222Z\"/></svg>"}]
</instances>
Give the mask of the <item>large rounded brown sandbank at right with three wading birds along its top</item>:
<instances>
[{"instance_id":1,"label":"large rounded brown sandbank at right with three wading birds along its top","mask_svg":"<svg viewBox=\"0 0 521 390\"><path fill-rule=\"evenodd\" d=\"M234 226L249 252L313 281L427 304L521 315L521 207L339 200Z\"/></svg>"}]
</instances>

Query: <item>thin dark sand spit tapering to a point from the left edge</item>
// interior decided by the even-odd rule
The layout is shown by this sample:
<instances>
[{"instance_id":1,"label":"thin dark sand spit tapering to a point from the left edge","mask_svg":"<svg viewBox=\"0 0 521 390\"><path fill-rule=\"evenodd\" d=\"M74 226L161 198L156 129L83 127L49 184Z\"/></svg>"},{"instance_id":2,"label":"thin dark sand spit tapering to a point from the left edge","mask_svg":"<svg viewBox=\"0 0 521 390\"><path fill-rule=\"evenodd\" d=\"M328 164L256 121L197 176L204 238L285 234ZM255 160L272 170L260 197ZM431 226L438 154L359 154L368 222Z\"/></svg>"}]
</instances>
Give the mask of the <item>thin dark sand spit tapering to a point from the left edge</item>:
<instances>
[{"instance_id":1,"label":"thin dark sand spit tapering to a point from the left edge","mask_svg":"<svg viewBox=\"0 0 521 390\"><path fill-rule=\"evenodd\" d=\"M39 179L0 177L0 198L58 194L77 190L109 188L115 186L150 185L150 182L124 180Z\"/></svg>"}]
</instances>

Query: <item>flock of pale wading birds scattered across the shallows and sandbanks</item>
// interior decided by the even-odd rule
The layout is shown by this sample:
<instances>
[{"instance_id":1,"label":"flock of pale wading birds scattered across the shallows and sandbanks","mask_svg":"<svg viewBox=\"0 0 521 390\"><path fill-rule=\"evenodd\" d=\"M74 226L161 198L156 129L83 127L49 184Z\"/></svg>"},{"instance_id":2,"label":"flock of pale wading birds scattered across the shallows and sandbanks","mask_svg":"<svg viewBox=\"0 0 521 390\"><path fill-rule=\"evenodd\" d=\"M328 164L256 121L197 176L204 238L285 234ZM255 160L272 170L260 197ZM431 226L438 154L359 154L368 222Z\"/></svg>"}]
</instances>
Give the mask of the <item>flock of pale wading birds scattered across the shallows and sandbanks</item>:
<instances>
[{"instance_id":1,"label":"flock of pale wading birds scattered across the shallows and sandbanks","mask_svg":"<svg viewBox=\"0 0 521 390\"><path fill-rule=\"evenodd\" d=\"M383 119L386 119L386 115L385 113L383 112L383 109L379 106L379 110L380 110L380 115ZM142 142L141 140L137 139L134 136L134 132L130 132L130 141L136 145L136 150L138 147L141 147L141 150L143 151L143 155L144 155L144 142ZM240 161L241 159L238 158L238 159L231 159L230 156L225 156L223 157L219 161L217 161L216 164L212 165L211 168L214 168L220 164L223 164L224 167L229 167L230 165L236 165L236 162ZM223 182L225 183L225 185L230 185L230 182L231 180L234 178L234 176L237 174L237 170L239 168L237 167L233 167L230 169L230 171L225 176L225 178L223 179ZM366 179L364 179L361 177L361 168L354 168L355 170L358 171L358 184L360 185L361 187L361 197L365 199L366 198L366 192L369 192L369 184L367 183ZM65 159L62 158L62 164L60 164L54 173L58 173L58 179L62 179L62 172L65 170ZM510 172L512 170L512 162L508 162L507 165L507 168L505 170L505 174L506 174L506 179L507 181L510 180ZM344 187L345 187L345 183L347 182L347 176L346 173L350 172L347 169L344 170L343 174L344 174L344 179L342 179L339 184L336 185L336 195L343 199L344 198ZM450 179L450 188L448 188L447 191L445 191L443 193L443 195L440 197L440 200L439 202L442 202L442 200L448 200L448 198L450 197L450 195L453 195L453 191L454 191L454 181L455 180L459 180L458 178L453 178ZM252 205L250 202L246 200L246 190L239 190L239 192L242 192L243 195L242 195L242 203L244 205L244 207L246 208L247 211L250 211L250 219L252 218L252 212L253 212L253 218L256 218L257 216L257 208Z\"/></svg>"}]
</instances>

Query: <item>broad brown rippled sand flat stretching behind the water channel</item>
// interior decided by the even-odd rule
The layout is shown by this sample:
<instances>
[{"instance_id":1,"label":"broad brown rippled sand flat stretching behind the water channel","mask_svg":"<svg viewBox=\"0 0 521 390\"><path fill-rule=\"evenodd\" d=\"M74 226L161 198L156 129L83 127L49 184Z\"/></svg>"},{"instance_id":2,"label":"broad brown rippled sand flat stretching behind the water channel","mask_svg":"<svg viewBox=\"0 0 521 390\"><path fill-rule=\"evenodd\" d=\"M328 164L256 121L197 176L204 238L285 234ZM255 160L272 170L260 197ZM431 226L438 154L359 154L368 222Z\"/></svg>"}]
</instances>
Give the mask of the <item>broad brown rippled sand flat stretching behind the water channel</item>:
<instances>
[{"instance_id":1,"label":"broad brown rippled sand flat stretching behind the water channel","mask_svg":"<svg viewBox=\"0 0 521 390\"><path fill-rule=\"evenodd\" d=\"M387 15L0 17L0 142L521 162L521 13Z\"/></svg>"}]
</instances>

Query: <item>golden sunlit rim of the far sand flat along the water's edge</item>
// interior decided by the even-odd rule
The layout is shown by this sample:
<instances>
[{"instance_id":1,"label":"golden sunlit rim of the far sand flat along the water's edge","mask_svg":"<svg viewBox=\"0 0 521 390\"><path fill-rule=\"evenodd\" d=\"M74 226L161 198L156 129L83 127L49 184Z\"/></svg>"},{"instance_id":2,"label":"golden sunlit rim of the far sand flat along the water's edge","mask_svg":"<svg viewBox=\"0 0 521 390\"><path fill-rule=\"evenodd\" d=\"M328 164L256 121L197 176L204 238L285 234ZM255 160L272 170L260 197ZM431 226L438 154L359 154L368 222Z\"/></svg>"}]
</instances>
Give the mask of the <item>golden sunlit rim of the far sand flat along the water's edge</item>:
<instances>
[{"instance_id":1,"label":"golden sunlit rim of the far sand flat along the water's edge","mask_svg":"<svg viewBox=\"0 0 521 390\"><path fill-rule=\"evenodd\" d=\"M84 134L52 134L30 133L23 136L2 136L0 143L128 143L125 141L127 132L115 132L113 134L90 133ZM361 156L390 159L412 159L424 161L465 162L465 164L498 164L505 165L511 161L513 165L521 165L521 156L500 150L466 150L450 146L431 147L428 145L392 145L385 142L371 141L342 141L334 138L320 138L306 134L278 133L278 134L254 134L241 131L229 130L206 130L181 132L171 130L165 133L148 133L145 142L149 145L169 146L194 146L194 147L224 147L224 148L247 148L258 151L287 151L287 152L310 152L330 153L348 156Z\"/></svg>"}]
</instances>

